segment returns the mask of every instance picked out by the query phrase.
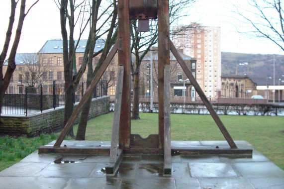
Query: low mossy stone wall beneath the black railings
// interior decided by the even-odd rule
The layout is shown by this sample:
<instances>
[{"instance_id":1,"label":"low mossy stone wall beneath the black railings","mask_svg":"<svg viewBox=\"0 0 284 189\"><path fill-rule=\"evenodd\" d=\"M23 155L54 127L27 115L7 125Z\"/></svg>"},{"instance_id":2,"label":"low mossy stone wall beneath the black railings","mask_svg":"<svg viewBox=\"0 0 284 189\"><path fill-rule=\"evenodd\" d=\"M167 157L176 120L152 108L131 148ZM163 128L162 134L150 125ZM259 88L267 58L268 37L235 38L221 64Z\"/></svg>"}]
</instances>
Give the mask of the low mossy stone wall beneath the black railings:
<instances>
[{"instance_id":1,"label":"low mossy stone wall beneath the black railings","mask_svg":"<svg viewBox=\"0 0 284 189\"><path fill-rule=\"evenodd\" d=\"M78 103L74 105L76 107ZM92 99L88 119L106 114L109 112L109 96L102 96ZM79 123L81 113L75 124ZM27 116L0 117L0 135L12 135L27 137L37 136L40 133L51 133L61 131L64 121L64 106L55 109L44 110L42 113L29 114Z\"/></svg>"}]
</instances>

